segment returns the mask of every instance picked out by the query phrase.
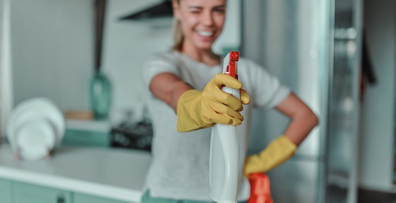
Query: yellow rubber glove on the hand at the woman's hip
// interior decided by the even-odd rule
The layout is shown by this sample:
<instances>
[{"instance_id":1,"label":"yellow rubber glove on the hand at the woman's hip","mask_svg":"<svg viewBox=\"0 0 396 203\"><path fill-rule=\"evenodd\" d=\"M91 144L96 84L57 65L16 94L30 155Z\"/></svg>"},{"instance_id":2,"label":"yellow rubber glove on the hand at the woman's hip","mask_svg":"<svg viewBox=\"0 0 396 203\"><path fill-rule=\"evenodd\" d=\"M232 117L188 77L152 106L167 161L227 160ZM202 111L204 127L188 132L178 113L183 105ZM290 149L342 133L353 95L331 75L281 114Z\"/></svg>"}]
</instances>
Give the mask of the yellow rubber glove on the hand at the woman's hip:
<instances>
[{"instance_id":1,"label":"yellow rubber glove on the hand at the woman's hip","mask_svg":"<svg viewBox=\"0 0 396 203\"><path fill-rule=\"evenodd\" d=\"M292 157L296 150L297 146L286 136L281 135L259 154L254 154L246 158L244 175L248 176L251 173L268 172Z\"/></svg>"}]
</instances>

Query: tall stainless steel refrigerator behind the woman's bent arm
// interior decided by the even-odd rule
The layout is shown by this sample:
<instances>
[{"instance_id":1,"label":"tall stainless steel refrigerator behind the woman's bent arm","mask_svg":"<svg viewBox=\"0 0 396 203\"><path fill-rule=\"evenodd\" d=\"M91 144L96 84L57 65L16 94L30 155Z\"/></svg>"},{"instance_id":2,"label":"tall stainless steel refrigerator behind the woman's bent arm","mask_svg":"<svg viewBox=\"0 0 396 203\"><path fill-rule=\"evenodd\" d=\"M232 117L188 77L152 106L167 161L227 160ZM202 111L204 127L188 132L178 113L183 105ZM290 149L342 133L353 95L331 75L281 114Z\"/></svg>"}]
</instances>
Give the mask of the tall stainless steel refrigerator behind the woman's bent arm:
<instances>
[{"instance_id":1,"label":"tall stainless steel refrigerator behind the woman's bent arm","mask_svg":"<svg viewBox=\"0 0 396 203\"><path fill-rule=\"evenodd\" d=\"M243 1L241 53L277 76L318 116L296 154L268 175L274 202L356 202L359 0ZM258 46L257 46L258 45ZM255 110L248 154L289 119Z\"/></svg>"}]
</instances>

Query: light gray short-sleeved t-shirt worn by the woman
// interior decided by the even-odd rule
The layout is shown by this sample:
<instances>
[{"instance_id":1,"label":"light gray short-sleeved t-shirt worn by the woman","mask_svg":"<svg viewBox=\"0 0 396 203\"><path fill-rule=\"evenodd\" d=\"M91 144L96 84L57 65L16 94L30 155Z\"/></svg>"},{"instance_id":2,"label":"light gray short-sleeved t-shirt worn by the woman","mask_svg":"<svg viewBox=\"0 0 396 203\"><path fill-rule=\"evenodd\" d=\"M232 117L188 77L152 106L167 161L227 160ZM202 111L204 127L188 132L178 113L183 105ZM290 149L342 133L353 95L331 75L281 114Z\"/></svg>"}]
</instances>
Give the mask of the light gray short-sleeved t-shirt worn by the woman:
<instances>
[{"instance_id":1,"label":"light gray short-sleeved t-shirt worn by the woman","mask_svg":"<svg viewBox=\"0 0 396 203\"><path fill-rule=\"evenodd\" d=\"M147 91L150 92L151 79L164 72L173 73L195 89L203 90L214 75L222 72L222 64L208 66L177 51L154 54L143 65ZM244 105L241 112L244 121L237 127L240 142L238 200L247 200L250 187L242 174L244 158L241 157L246 156L252 110L276 107L289 95L290 90L248 59L240 58L238 61L238 76L251 99L250 104ZM147 105L154 137L145 190L150 190L153 197L211 201L209 152L212 129L178 132L176 113L170 106L151 93Z\"/></svg>"}]
</instances>

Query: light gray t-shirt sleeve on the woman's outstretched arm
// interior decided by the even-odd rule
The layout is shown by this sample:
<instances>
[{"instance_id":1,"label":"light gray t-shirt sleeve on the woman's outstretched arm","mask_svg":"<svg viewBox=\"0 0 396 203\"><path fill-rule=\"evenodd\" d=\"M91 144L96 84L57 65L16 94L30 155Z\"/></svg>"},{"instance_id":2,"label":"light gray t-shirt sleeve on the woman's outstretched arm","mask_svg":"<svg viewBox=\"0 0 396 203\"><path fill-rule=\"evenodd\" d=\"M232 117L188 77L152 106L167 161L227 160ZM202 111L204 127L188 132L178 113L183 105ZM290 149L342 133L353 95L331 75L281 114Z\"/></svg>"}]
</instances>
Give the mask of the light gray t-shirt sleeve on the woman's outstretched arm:
<instances>
[{"instance_id":1,"label":"light gray t-shirt sleeve on the woman's outstretched arm","mask_svg":"<svg viewBox=\"0 0 396 203\"><path fill-rule=\"evenodd\" d=\"M160 73L172 73L179 75L177 70L177 59L171 53L153 54L143 62L143 81L149 88L151 80Z\"/></svg>"}]
</instances>

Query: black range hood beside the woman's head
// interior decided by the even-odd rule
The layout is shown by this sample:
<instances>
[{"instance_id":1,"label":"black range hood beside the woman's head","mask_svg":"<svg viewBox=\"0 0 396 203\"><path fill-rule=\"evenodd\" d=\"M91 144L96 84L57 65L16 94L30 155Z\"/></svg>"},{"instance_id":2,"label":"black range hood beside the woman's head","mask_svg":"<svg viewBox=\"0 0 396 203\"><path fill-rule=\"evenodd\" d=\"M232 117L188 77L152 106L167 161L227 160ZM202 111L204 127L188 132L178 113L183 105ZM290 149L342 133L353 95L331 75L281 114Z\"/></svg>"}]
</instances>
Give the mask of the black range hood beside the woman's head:
<instances>
[{"instance_id":1,"label":"black range hood beside the woman's head","mask_svg":"<svg viewBox=\"0 0 396 203\"><path fill-rule=\"evenodd\" d=\"M120 17L120 20L134 20L134 21L157 21L164 18L171 19L173 17L172 0L164 0L160 4L156 4L147 9L131 13L129 15Z\"/></svg>"}]
</instances>

